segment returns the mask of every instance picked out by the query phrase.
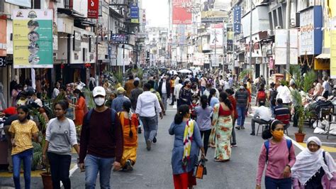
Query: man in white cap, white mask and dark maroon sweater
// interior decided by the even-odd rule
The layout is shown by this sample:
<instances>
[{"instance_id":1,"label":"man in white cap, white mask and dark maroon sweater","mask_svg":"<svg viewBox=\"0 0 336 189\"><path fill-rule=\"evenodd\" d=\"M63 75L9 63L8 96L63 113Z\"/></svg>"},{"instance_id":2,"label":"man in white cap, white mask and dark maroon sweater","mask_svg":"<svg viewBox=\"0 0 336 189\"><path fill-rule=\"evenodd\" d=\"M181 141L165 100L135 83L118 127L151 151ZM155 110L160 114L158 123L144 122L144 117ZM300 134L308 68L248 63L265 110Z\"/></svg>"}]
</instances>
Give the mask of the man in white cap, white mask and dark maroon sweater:
<instances>
[{"instance_id":1,"label":"man in white cap, white mask and dark maroon sweater","mask_svg":"<svg viewBox=\"0 0 336 189\"><path fill-rule=\"evenodd\" d=\"M121 168L123 129L116 111L104 105L106 92L103 87L94 87L92 93L96 107L84 116L79 168L84 171L85 167L86 189L96 187L98 173L101 188L111 188L112 166L113 171Z\"/></svg>"}]
</instances>

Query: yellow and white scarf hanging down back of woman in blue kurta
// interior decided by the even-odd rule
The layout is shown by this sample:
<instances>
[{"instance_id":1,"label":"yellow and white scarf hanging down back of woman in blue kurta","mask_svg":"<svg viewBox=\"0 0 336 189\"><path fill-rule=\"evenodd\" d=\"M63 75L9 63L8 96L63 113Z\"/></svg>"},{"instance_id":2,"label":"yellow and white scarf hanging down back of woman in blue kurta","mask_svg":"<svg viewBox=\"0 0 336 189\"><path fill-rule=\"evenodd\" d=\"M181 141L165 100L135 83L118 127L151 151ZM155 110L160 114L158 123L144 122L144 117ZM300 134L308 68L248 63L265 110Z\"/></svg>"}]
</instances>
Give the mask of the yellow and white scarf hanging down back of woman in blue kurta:
<instances>
[{"instance_id":1,"label":"yellow and white scarf hanging down back of woman in blue kurta","mask_svg":"<svg viewBox=\"0 0 336 189\"><path fill-rule=\"evenodd\" d=\"M183 135L183 157L182 167L186 169L186 165L190 161L191 142L194 134L194 121L189 119L186 121L186 128Z\"/></svg>"}]
</instances>

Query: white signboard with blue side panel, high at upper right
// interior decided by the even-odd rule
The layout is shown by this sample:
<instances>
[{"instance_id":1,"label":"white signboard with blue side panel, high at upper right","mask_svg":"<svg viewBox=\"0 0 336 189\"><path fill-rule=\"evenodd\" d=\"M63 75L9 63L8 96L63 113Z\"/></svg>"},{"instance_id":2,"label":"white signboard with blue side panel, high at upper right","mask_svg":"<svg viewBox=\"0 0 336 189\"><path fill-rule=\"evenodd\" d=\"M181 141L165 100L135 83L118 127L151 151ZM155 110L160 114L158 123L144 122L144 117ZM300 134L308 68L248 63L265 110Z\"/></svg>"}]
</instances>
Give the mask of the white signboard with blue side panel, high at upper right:
<instances>
[{"instance_id":1,"label":"white signboard with blue side panel, high at upper right","mask_svg":"<svg viewBox=\"0 0 336 189\"><path fill-rule=\"evenodd\" d=\"M300 12L300 55L322 52L323 13L321 6L310 6Z\"/></svg>"}]
</instances>

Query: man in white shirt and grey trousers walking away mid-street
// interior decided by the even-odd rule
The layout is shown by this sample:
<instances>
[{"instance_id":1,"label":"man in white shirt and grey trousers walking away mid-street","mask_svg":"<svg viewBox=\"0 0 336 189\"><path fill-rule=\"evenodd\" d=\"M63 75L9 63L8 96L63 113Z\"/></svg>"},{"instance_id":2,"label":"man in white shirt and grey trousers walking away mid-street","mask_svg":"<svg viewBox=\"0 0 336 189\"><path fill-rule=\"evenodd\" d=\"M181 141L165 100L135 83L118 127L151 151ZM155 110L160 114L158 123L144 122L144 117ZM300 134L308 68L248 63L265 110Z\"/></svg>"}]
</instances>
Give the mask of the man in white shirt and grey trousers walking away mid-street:
<instances>
[{"instance_id":1,"label":"man in white shirt and grey trousers walking away mid-street","mask_svg":"<svg viewBox=\"0 0 336 189\"><path fill-rule=\"evenodd\" d=\"M144 92L139 95L137 108L135 109L135 114L140 117L145 131L144 136L147 151L150 151L152 141L157 135L156 113L159 113L159 117L162 119L162 109L159 105L159 99L157 99L157 95L150 92L150 88L150 83L145 83L143 86Z\"/></svg>"}]
</instances>

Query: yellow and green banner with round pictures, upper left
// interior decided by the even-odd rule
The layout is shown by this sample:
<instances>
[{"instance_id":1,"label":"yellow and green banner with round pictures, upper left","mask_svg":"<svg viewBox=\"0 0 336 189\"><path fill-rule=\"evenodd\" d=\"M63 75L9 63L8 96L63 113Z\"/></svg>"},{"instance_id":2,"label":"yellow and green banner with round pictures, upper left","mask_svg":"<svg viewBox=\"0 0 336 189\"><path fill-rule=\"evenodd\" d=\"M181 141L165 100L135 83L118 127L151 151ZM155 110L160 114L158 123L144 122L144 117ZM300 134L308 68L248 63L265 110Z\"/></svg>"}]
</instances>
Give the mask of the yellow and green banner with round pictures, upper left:
<instances>
[{"instance_id":1,"label":"yellow and green banner with round pictures, upper left","mask_svg":"<svg viewBox=\"0 0 336 189\"><path fill-rule=\"evenodd\" d=\"M52 68L52 10L13 11L14 68Z\"/></svg>"}]
</instances>

